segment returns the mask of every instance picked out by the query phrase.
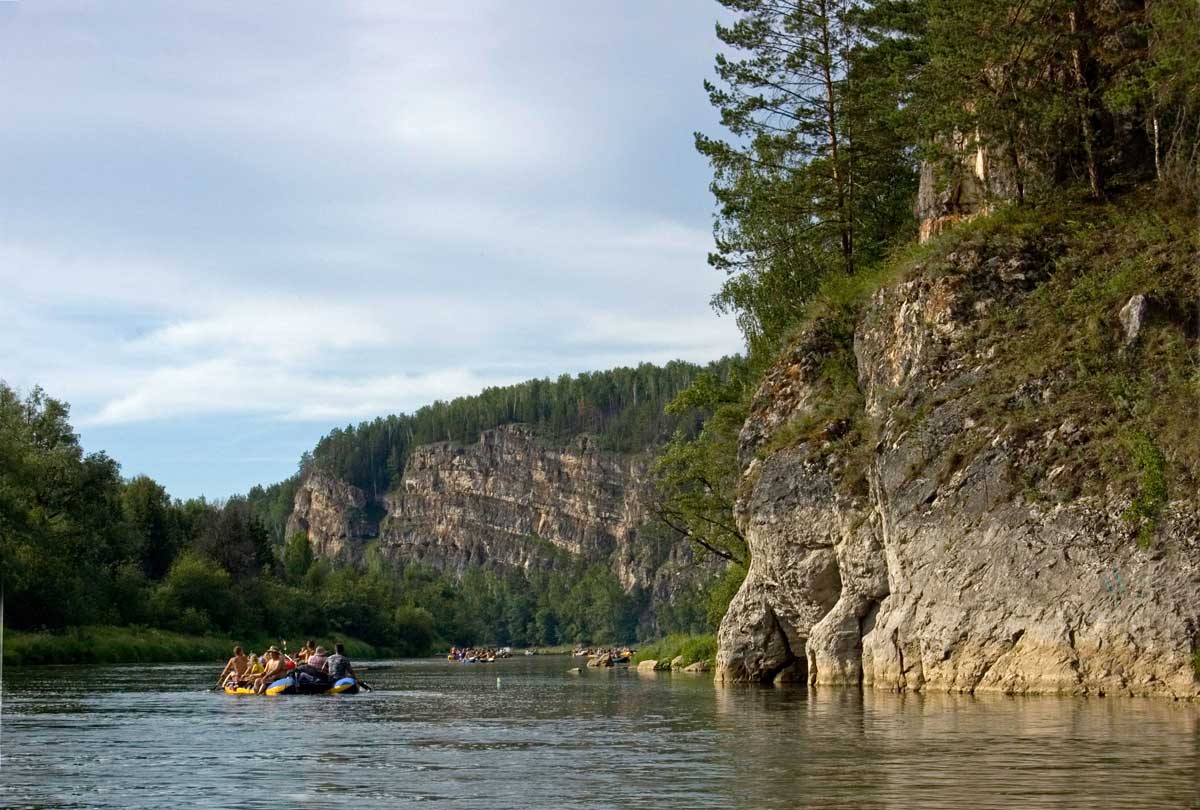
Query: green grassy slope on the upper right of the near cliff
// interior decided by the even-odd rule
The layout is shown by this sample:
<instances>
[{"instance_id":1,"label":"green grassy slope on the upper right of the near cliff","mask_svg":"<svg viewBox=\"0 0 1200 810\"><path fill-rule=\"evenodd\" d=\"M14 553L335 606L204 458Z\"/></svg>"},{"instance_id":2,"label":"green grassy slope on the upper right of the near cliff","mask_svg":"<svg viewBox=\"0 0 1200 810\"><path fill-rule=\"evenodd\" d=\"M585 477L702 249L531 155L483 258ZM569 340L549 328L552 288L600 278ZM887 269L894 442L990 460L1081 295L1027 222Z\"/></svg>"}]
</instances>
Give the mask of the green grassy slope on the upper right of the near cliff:
<instances>
[{"instance_id":1,"label":"green grassy slope on the upper right of the near cliff","mask_svg":"<svg viewBox=\"0 0 1200 810\"><path fill-rule=\"evenodd\" d=\"M977 344L991 347L995 360L968 395L972 415L1018 439L1037 440L1067 422L1081 430L1052 442L1022 474L1034 488L1057 490L1056 499L1115 487L1133 499L1127 520L1146 546L1168 493L1200 482L1200 373L1189 336L1200 284L1194 217L1135 192L1105 205L1008 217L1016 218L1024 247L995 233L976 234L967 246L983 256L1032 254L1048 277L977 324ZM1123 348L1117 313L1138 293L1150 312L1139 342ZM1048 472L1060 466L1068 474L1048 486Z\"/></svg>"}]
</instances>

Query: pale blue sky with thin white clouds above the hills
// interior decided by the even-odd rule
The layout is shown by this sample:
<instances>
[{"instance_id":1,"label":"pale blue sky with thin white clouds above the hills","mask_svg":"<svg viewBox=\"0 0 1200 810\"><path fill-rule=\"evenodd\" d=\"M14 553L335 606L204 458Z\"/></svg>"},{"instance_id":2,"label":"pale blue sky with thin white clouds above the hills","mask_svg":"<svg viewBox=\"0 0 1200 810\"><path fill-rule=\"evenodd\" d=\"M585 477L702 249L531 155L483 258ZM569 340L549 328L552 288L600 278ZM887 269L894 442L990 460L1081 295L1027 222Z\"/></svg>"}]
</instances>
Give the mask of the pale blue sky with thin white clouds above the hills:
<instances>
[{"instance_id":1,"label":"pale blue sky with thin white clouds above the hills","mask_svg":"<svg viewBox=\"0 0 1200 810\"><path fill-rule=\"evenodd\" d=\"M740 350L710 0L0 1L0 379L176 497L335 426Z\"/></svg>"}]
</instances>

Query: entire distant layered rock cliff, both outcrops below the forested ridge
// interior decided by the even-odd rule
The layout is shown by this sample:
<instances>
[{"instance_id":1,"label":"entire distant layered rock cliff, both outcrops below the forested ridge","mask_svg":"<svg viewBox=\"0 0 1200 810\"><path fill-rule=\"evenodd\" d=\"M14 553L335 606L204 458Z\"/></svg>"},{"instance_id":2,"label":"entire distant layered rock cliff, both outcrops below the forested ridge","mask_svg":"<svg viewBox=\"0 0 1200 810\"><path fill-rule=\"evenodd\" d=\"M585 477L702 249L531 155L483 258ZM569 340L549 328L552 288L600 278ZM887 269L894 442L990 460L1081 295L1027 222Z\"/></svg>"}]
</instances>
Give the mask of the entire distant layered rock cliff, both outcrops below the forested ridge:
<instances>
[{"instance_id":1,"label":"entire distant layered rock cliff, both outcrops below the forested ridge","mask_svg":"<svg viewBox=\"0 0 1200 810\"><path fill-rule=\"evenodd\" d=\"M452 576L472 568L526 571L559 553L612 568L629 590L668 598L696 571L690 551L643 536L648 455L600 450L589 437L568 446L523 425L486 431L470 445L416 448L395 492L373 502L323 473L301 484L288 534L307 532L318 557L359 562L367 542L397 565ZM712 571L708 571L712 574Z\"/></svg>"}]
</instances>

